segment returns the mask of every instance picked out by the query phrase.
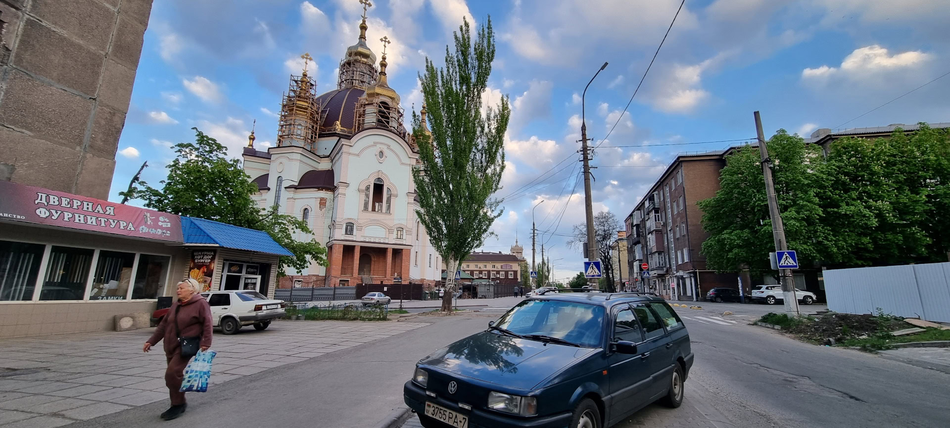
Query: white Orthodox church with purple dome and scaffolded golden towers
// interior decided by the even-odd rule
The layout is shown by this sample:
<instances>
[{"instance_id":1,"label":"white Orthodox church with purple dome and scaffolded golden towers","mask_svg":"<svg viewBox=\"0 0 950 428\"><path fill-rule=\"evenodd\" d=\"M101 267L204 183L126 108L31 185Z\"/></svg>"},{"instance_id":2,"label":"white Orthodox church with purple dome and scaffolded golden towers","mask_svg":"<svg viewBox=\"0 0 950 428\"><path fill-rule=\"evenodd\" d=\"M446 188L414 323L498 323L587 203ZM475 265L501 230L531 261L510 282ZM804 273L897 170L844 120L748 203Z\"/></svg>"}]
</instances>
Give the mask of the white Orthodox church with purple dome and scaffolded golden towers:
<instances>
[{"instance_id":1,"label":"white Orthodox church with purple dome and scaffolded golden towers","mask_svg":"<svg viewBox=\"0 0 950 428\"><path fill-rule=\"evenodd\" d=\"M361 2L363 3L363 2ZM278 206L303 219L328 249L327 267L287 271L281 286L336 287L424 283L441 278L443 261L416 218L412 167L418 148L403 124L399 94L387 83L386 49L366 44L366 7L359 40L347 48L336 88L316 94L307 62L291 76L281 102L276 146L259 151L252 131L244 171L262 208ZM425 123L426 108L422 108Z\"/></svg>"}]
</instances>

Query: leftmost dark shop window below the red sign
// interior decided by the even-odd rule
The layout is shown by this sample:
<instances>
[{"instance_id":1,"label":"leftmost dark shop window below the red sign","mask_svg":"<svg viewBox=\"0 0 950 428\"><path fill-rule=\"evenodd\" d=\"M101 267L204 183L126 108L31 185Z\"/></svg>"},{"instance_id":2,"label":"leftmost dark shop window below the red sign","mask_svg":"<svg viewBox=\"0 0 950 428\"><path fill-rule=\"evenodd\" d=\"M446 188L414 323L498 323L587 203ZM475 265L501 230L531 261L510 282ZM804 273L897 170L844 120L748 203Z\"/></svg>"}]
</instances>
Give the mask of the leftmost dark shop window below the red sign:
<instances>
[{"instance_id":1,"label":"leftmost dark shop window below the red sign","mask_svg":"<svg viewBox=\"0 0 950 428\"><path fill-rule=\"evenodd\" d=\"M45 245L0 241L0 301L32 300Z\"/></svg>"}]
</instances>

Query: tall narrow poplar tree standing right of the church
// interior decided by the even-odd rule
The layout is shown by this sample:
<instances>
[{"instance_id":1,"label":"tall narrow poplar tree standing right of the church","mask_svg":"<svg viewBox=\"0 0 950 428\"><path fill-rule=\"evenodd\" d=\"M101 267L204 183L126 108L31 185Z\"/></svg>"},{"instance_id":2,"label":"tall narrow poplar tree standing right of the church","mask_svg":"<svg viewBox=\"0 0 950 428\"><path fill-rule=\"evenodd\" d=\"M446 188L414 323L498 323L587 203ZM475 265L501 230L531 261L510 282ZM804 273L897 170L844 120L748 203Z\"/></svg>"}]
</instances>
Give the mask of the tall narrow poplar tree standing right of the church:
<instances>
[{"instance_id":1,"label":"tall narrow poplar tree standing right of the church","mask_svg":"<svg viewBox=\"0 0 950 428\"><path fill-rule=\"evenodd\" d=\"M482 94L495 59L491 18L478 29L474 42L465 19L452 35L455 50L446 47L445 67L436 67L427 57L426 70L419 75L427 123L412 114L420 160L412 177L422 208L416 214L448 271L458 270L485 242L491 224L502 214L501 200L491 195L500 189L504 132L511 116L507 96L497 107L483 110ZM449 275L442 310L451 310L454 289Z\"/></svg>"}]
</instances>

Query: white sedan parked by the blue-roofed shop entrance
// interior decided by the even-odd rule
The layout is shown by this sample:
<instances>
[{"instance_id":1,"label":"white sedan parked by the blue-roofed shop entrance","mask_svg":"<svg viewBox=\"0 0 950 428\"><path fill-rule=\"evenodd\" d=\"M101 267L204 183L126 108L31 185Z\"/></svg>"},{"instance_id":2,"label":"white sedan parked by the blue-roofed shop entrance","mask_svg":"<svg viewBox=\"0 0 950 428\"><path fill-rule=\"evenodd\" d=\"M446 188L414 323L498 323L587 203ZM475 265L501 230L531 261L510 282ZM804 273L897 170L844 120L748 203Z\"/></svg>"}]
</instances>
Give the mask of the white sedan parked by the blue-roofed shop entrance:
<instances>
[{"instance_id":1,"label":"white sedan parked by the blue-roofed shop entrance","mask_svg":"<svg viewBox=\"0 0 950 428\"><path fill-rule=\"evenodd\" d=\"M211 320L224 334L235 334L241 326L263 330L271 322L287 315L287 303L268 299L249 289L209 291L201 293L211 307Z\"/></svg>"}]
</instances>

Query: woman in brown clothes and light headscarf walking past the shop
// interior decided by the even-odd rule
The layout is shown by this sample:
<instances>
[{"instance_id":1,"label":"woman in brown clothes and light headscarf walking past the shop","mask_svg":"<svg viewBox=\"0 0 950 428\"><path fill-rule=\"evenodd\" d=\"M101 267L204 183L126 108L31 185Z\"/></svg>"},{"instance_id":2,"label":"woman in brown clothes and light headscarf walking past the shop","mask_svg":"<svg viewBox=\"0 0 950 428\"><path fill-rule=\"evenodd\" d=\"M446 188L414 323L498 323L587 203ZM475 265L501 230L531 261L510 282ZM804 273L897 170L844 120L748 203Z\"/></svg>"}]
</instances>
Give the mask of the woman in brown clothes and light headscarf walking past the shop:
<instances>
[{"instance_id":1,"label":"woman in brown clothes and light headscarf walking past the shop","mask_svg":"<svg viewBox=\"0 0 950 428\"><path fill-rule=\"evenodd\" d=\"M162 348L168 363L168 368L165 369L165 386L168 386L172 405L161 414L161 419L176 419L184 413L187 404L184 393L179 392L184 379L184 367L195 356L199 347L202 351L211 347L211 307L199 294L201 288L201 284L194 279L181 281L176 291L178 300L161 319L152 337L142 346L142 350L148 352L153 345L164 341Z\"/></svg>"}]
</instances>

